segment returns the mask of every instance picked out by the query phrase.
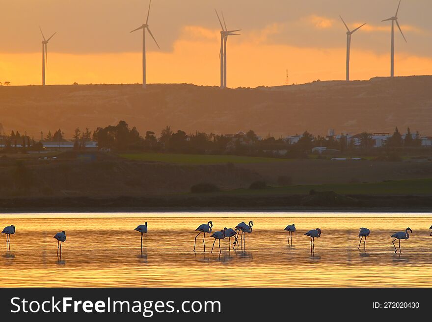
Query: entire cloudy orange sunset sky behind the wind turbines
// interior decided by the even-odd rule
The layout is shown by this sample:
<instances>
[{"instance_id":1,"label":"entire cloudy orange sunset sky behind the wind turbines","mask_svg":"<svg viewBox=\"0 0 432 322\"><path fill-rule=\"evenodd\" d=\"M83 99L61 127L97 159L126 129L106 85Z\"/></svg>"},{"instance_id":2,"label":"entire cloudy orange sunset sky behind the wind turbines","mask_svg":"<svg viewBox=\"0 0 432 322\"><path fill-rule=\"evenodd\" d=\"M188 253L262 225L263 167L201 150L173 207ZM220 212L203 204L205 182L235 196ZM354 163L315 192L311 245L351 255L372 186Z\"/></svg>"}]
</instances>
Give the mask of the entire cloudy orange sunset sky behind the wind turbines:
<instances>
[{"instance_id":1,"label":"entire cloudy orange sunset sky behind the wind turbines","mask_svg":"<svg viewBox=\"0 0 432 322\"><path fill-rule=\"evenodd\" d=\"M351 30L368 23L353 34L351 79L390 73L390 24L380 20L394 12L395 0L364 0L368 5L344 0L327 0L326 5L319 0L269 0L265 6L260 1L238 0L237 5L220 1L153 1L150 25L162 50L147 37L148 83L219 84L216 4L228 11L230 28L243 29L240 36L228 40L228 87L284 85L287 69L290 84L345 79L346 29L338 17L341 11ZM0 82L41 83L37 27L41 21L47 37L57 31L48 45L48 85L141 82L141 32L129 31L142 23L148 1L74 3L4 3L0 20L10 27L3 30L0 44ZM398 76L432 74L432 32L429 20L418 15L428 8L431 3L426 0L403 1L400 23L409 42L396 30Z\"/></svg>"}]
</instances>

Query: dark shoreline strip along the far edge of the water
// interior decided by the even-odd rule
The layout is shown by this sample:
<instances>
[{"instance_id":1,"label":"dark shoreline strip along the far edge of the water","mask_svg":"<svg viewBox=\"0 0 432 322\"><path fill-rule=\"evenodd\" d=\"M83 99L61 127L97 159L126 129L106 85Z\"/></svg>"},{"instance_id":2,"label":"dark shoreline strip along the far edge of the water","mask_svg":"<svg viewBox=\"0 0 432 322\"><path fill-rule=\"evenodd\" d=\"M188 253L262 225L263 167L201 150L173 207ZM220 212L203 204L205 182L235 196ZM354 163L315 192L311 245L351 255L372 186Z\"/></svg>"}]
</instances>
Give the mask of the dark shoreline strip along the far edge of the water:
<instances>
[{"instance_id":1,"label":"dark shoreline strip along the far edge of the water","mask_svg":"<svg viewBox=\"0 0 432 322\"><path fill-rule=\"evenodd\" d=\"M198 212L345 212L431 213L431 196L342 196L303 204L305 196L159 196L0 198L1 214L16 213L198 213Z\"/></svg>"}]
</instances>

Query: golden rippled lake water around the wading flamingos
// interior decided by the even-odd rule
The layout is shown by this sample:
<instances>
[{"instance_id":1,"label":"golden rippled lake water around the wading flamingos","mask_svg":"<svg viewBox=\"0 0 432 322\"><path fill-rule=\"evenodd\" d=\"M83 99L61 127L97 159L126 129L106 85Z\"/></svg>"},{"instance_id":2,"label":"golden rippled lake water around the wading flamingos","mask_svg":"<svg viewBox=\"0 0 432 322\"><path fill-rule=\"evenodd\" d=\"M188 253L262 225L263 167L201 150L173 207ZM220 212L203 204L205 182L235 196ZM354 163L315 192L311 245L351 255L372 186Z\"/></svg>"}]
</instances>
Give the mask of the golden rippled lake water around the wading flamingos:
<instances>
[{"instance_id":1,"label":"golden rippled lake water around the wading flamingos","mask_svg":"<svg viewBox=\"0 0 432 322\"><path fill-rule=\"evenodd\" d=\"M256 215L251 218L254 229L245 238L245 248L238 245L233 250L234 240L225 238L220 241L221 253L216 241L211 254L214 240L208 234L206 252L203 236L197 238L196 252L192 251L197 235L194 229L212 219L210 216L174 218L168 214L173 227L169 233L166 218L148 219L149 231L143 239L142 252L140 236L134 228L147 218L146 214L141 218L116 218L112 214L105 218L100 214L98 218L52 216L14 219L9 215L7 222L0 220L0 226L12 221L17 227L12 251L3 252L0 257L2 286L133 287L145 279L149 287L361 287L364 283L371 287L432 287L432 239L428 230L431 219L427 217ZM216 227L235 227L248 220L214 218L213 223ZM291 247L283 229L292 222L297 231ZM303 234L317 224L323 234L316 238L317 248L311 253L310 238ZM414 233L402 241L402 254L394 254L390 236L408 224ZM58 260L54 260L57 249L53 235L59 225L68 232L68 240L65 250L60 253L59 249ZM362 226L371 230L366 251L363 242L358 249L358 227ZM210 275L218 280L217 285L208 278Z\"/></svg>"}]
</instances>

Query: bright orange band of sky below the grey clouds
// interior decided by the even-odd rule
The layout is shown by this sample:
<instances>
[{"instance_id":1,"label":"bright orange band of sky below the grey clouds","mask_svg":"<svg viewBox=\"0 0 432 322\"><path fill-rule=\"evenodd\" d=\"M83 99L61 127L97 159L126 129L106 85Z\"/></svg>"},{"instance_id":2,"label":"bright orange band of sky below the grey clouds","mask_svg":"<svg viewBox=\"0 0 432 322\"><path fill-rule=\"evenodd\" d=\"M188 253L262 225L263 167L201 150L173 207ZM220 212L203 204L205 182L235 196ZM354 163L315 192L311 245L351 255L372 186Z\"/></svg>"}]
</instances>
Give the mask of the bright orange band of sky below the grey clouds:
<instances>
[{"instance_id":1,"label":"bright orange band of sky below the grey clouds","mask_svg":"<svg viewBox=\"0 0 432 322\"><path fill-rule=\"evenodd\" d=\"M267 30L271 33L272 27ZM139 37L136 37L139 41ZM188 26L171 52L147 53L149 83L218 85L218 30ZM346 49L303 48L268 44L266 31L228 41L228 86L283 85L345 77ZM52 46L54 47L54 46ZM49 47L50 49L50 47ZM48 53L47 84L135 83L141 80L139 52L68 54ZM12 85L40 84L41 53L7 53L0 58L0 81ZM432 58L396 54L396 75L432 74ZM351 79L387 76L389 54L357 50L352 46Z\"/></svg>"}]
</instances>

